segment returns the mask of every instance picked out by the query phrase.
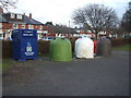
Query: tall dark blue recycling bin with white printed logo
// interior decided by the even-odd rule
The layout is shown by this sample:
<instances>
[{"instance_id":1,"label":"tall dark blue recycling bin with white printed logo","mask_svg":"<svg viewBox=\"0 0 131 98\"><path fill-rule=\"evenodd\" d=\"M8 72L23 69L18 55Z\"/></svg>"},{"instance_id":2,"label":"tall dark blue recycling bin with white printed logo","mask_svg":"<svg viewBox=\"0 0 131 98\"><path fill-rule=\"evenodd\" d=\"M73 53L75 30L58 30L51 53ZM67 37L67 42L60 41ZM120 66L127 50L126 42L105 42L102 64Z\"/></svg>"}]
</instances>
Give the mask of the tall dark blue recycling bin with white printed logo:
<instances>
[{"instance_id":1,"label":"tall dark blue recycling bin with white printed logo","mask_svg":"<svg viewBox=\"0 0 131 98\"><path fill-rule=\"evenodd\" d=\"M37 60L37 30L36 29L14 29L13 59L26 61L27 59Z\"/></svg>"}]
</instances>

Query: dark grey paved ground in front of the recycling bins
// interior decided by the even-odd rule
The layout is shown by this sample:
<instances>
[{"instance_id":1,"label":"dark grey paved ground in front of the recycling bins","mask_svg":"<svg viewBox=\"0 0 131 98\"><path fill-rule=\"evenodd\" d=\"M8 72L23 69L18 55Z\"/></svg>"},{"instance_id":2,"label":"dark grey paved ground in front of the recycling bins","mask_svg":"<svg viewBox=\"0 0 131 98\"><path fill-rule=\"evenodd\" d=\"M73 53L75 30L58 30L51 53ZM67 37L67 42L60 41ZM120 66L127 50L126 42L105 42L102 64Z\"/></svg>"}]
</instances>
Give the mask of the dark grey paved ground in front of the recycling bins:
<instances>
[{"instance_id":1,"label":"dark grey paved ground in front of the recycling bins","mask_svg":"<svg viewBox=\"0 0 131 98\"><path fill-rule=\"evenodd\" d=\"M129 52L71 62L14 62L3 75L3 96L128 96Z\"/></svg>"}]
</instances>

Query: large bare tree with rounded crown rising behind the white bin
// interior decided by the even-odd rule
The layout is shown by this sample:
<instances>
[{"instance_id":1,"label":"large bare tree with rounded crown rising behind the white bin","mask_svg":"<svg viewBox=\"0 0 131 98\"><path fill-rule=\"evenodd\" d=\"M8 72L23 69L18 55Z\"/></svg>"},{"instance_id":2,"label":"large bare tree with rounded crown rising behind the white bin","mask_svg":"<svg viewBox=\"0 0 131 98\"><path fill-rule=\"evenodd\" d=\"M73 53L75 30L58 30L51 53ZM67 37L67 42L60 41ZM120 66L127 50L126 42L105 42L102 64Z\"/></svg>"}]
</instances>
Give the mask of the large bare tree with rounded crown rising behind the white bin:
<instances>
[{"instance_id":1,"label":"large bare tree with rounded crown rising behind the white bin","mask_svg":"<svg viewBox=\"0 0 131 98\"><path fill-rule=\"evenodd\" d=\"M104 4L87 4L82 9L73 12L72 20L75 24L83 24L87 29L96 35L100 30L115 27L118 25L116 12Z\"/></svg>"}]
</instances>

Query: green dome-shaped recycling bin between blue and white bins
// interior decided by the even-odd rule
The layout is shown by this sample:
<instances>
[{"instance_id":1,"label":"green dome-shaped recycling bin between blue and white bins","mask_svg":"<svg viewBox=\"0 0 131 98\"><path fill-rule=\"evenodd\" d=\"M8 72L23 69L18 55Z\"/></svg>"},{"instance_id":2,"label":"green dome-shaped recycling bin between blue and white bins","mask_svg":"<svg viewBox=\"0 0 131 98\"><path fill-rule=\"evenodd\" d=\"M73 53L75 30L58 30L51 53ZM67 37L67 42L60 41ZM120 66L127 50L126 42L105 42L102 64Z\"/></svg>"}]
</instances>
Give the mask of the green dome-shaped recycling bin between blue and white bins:
<instances>
[{"instance_id":1,"label":"green dome-shaped recycling bin between blue and white bins","mask_svg":"<svg viewBox=\"0 0 131 98\"><path fill-rule=\"evenodd\" d=\"M50 41L50 58L51 61L71 61L72 47L67 38L56 38Z\"/></svg>"}]
</instances>

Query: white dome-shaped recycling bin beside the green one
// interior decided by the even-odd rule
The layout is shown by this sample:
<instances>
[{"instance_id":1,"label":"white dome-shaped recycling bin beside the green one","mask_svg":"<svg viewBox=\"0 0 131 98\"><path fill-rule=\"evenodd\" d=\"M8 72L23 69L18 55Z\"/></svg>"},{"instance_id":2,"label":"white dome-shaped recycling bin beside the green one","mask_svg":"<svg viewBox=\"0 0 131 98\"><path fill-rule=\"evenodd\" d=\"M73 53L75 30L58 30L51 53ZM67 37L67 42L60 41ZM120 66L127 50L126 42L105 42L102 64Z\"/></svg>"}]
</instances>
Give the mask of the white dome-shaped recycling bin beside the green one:
<instances>
[{"instance_id":1,"label":"white dome-shaped recycling bin beside the green one","mask_svg":"<svg viewBox=\"0 0 131 98\"><path fill-rule=\"evenodd\" d=\"M75 41L75 57L84 58L84 59L93 59L94 58L94 42L88 37L79 38Z\"/></svg>"}]
</instances>

